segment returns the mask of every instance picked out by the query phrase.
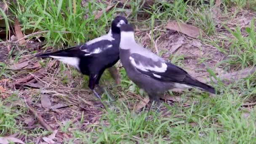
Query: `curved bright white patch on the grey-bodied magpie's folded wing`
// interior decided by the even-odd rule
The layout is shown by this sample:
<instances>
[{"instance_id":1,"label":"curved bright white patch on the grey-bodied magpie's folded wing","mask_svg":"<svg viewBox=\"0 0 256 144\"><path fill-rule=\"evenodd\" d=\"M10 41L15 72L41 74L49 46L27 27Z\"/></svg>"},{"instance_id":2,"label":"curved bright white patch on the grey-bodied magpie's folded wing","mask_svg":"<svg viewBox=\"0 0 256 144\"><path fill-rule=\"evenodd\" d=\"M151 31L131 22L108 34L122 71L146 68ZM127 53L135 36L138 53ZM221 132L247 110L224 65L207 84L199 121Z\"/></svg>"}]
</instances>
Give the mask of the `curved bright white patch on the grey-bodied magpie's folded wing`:
<instances>
[{"instance_id":1,"label":"curved bright white patch on the grey-bodied magpie's folded wing","mask_svg":"<svg viewBox=\"0 0 256 144\"><path fill-rule=\"evenodd\" d=\"M136 64L133 57L130 56L129 59L131 60L131 64L134 67L136 67L137 69L140 69L144 72L148 72L149 70L155 71L155 72L165 72L167 70L167 64L165 64L165 63L161 63L162 64L161 67L157 67L157 66L155 66L155 67L145 67L141 63ZM157 75L157 76L159 77L160 75ZM157 77L157 76L155 76L155 77Z\"/></svg>"}]
</instances>

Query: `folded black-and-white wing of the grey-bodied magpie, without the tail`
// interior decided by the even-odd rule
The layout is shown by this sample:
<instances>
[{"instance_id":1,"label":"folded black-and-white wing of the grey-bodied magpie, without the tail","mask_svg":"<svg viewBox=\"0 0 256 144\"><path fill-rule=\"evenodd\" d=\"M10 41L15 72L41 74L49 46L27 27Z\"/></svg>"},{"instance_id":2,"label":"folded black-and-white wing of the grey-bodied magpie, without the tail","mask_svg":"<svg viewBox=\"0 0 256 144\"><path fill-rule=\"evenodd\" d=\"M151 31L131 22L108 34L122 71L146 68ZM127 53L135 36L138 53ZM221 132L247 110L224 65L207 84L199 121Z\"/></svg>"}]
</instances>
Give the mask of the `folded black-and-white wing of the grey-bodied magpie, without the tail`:
<instances>
[{"instance_id":1,"label":"folded black-and-white wing of the grey-bodied magpie, without the tail","mask_svg":"<svg viewBox=\"0 0 256 144\"><path fill-rule=\"evenodd\" d=\"M188 73L183 69L158 59L155 61L139 53L131 53L130 62L140 73L147 77L165 82L182 83Z\"/></svg>"}]
</instances>

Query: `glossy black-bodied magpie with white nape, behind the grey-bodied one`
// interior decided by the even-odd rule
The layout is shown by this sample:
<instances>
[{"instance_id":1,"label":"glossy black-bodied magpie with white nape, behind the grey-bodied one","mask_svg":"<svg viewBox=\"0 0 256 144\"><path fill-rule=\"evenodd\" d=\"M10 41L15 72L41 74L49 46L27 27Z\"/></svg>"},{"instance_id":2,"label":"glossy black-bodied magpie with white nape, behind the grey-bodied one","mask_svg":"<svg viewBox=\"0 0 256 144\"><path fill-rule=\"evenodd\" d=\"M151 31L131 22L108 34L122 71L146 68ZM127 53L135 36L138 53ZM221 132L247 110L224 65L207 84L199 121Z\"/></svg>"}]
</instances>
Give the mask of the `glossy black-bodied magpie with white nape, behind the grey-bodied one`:
<instances>
[{"instance_id":1,"label":"glossy black-bodied magpie with white nape, behind the grey-bodied one","mask_svg":"<svg viewBox=\"0 0 256 144\"><path fill-rule=\"evenodd\" d=\"M89 76L88 87L100 99L94 90L104 70L112 67L119 60L120 26L128 21L117 16L112 21L111 29L106 35L97 37L83 45L77 45L53 53L37 54L36 57L57 59L76 67L83 75Z\"/></svg>"}]
</instances>

